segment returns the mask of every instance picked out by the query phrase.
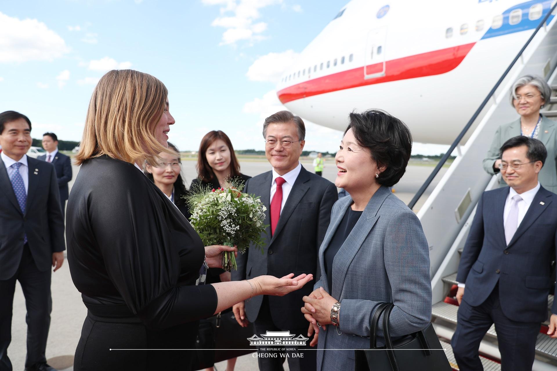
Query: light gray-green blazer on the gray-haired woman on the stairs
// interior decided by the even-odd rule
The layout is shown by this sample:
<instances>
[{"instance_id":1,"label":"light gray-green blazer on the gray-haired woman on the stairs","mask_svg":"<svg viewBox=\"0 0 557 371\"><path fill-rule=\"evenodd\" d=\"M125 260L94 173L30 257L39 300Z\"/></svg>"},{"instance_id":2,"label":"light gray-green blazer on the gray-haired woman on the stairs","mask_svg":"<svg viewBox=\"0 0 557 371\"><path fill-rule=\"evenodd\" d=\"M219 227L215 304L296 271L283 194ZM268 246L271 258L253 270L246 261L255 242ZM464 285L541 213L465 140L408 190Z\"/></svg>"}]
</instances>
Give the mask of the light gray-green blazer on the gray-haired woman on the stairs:
<instances>
[{"instance_id":1,"label":"light gray-green blazer on the gray-haired woman on the stairs","mask_svg":"<svg viewBox=\"0 0 557 371\"><path fill-rule=\"evenodd\" d=\"M545 145L548 151L548 157L545 160L544 167L541 168L538 179L540 184L548 191L557 193L557 123L549 118L542 116L541 125L539 127L538 139ZM499 149L510 138L520 135L520 118L511 123L499 126L495 132L493 142L487 156L483 159L483 169L488 174L494 175L493 169L495 160L500 159ZM499 171L497 171L499 172ZM501 178L499 187L506 187L507 184Z\"/></svg>"}]
</instances>

